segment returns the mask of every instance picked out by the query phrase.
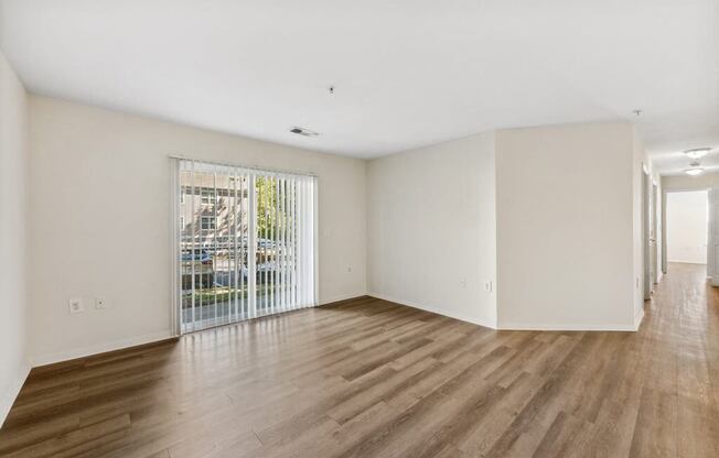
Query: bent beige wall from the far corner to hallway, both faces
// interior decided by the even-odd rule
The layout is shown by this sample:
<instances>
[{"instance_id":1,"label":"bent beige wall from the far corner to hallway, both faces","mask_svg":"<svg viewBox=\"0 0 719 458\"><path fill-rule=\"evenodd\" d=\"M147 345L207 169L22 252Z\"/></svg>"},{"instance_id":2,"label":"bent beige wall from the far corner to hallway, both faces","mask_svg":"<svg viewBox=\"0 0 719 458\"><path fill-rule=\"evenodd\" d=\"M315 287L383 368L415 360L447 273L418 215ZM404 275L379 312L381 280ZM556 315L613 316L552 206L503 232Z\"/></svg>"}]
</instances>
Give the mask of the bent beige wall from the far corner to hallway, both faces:
<instances>
[{"instance_id":1,"label":"bent beige wall from the far corner to hallway, both faces","mask_svg":"<svg viewBox=\"0 0 719 458\"><path fill-rule=\"evenodd\" d=\"M491 327L634 329L645 165L629 123L502 130L372 161L368 293Z\"/></svg>"}]
</instances>

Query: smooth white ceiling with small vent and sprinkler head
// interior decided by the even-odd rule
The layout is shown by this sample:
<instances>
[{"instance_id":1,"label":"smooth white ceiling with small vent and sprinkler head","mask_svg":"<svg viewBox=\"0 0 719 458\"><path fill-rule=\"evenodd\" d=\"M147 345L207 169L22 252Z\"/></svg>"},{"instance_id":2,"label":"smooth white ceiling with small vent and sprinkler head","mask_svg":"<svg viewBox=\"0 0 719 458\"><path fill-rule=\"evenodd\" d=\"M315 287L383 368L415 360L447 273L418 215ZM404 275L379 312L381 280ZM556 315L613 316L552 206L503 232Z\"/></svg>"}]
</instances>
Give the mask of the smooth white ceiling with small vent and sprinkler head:
<instances>
[{"instance_id":1,"label":"smooth white ceiling with small vent and sprinkler head","mask_svg":"<svg viewBox=\"0 0 719 458\"><path fill-rule=\"evenodd\" d=\"M719 146L717 3L0 0L0 46L36 94L356 157L626 119L668 173Z\"/></svg>"}]
</instances>

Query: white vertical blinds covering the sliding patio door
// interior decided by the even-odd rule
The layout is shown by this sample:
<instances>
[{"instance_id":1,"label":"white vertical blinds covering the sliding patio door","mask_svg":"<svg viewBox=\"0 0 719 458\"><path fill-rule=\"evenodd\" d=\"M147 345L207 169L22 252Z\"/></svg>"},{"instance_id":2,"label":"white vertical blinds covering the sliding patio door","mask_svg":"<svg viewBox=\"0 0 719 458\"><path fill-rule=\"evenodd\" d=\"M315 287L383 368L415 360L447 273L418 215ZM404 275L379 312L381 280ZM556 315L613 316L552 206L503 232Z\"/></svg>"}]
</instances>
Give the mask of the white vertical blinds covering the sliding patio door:
<instances>
[{"instance_id":1,"label":"white vertical blinds covering the sliding patio door","mask_svg":"<svg viewBox=\"0 0 719 458\"><path fill-rule=\"evenodd\" d=\"M316 178L192 160L175 171L181 332L314 305Z\"/></svg>"}]
</instances>

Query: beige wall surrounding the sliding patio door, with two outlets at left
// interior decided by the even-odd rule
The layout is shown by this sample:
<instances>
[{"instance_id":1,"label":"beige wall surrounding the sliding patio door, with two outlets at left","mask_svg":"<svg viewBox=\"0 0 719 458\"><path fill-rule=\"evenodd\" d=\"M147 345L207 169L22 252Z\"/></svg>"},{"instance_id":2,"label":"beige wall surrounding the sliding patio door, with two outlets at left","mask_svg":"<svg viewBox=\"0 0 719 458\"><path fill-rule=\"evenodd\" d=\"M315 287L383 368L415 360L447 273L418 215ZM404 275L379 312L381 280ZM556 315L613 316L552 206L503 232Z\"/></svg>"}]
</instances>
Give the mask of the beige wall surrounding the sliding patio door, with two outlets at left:
<instances>
[{"instance_id":1,"label":"beige wall surrounding the sliding patio door, with two outlets at left","mask_svg":"<svg viewBox=\"0 0 719 458\"><path fill-rule=\"evenodd\" d=\"M315 173L320 302L365 293L364 161L36 96L30 115L35 364L170 335L169 154Z\"/></svg>"}]
</instances>

